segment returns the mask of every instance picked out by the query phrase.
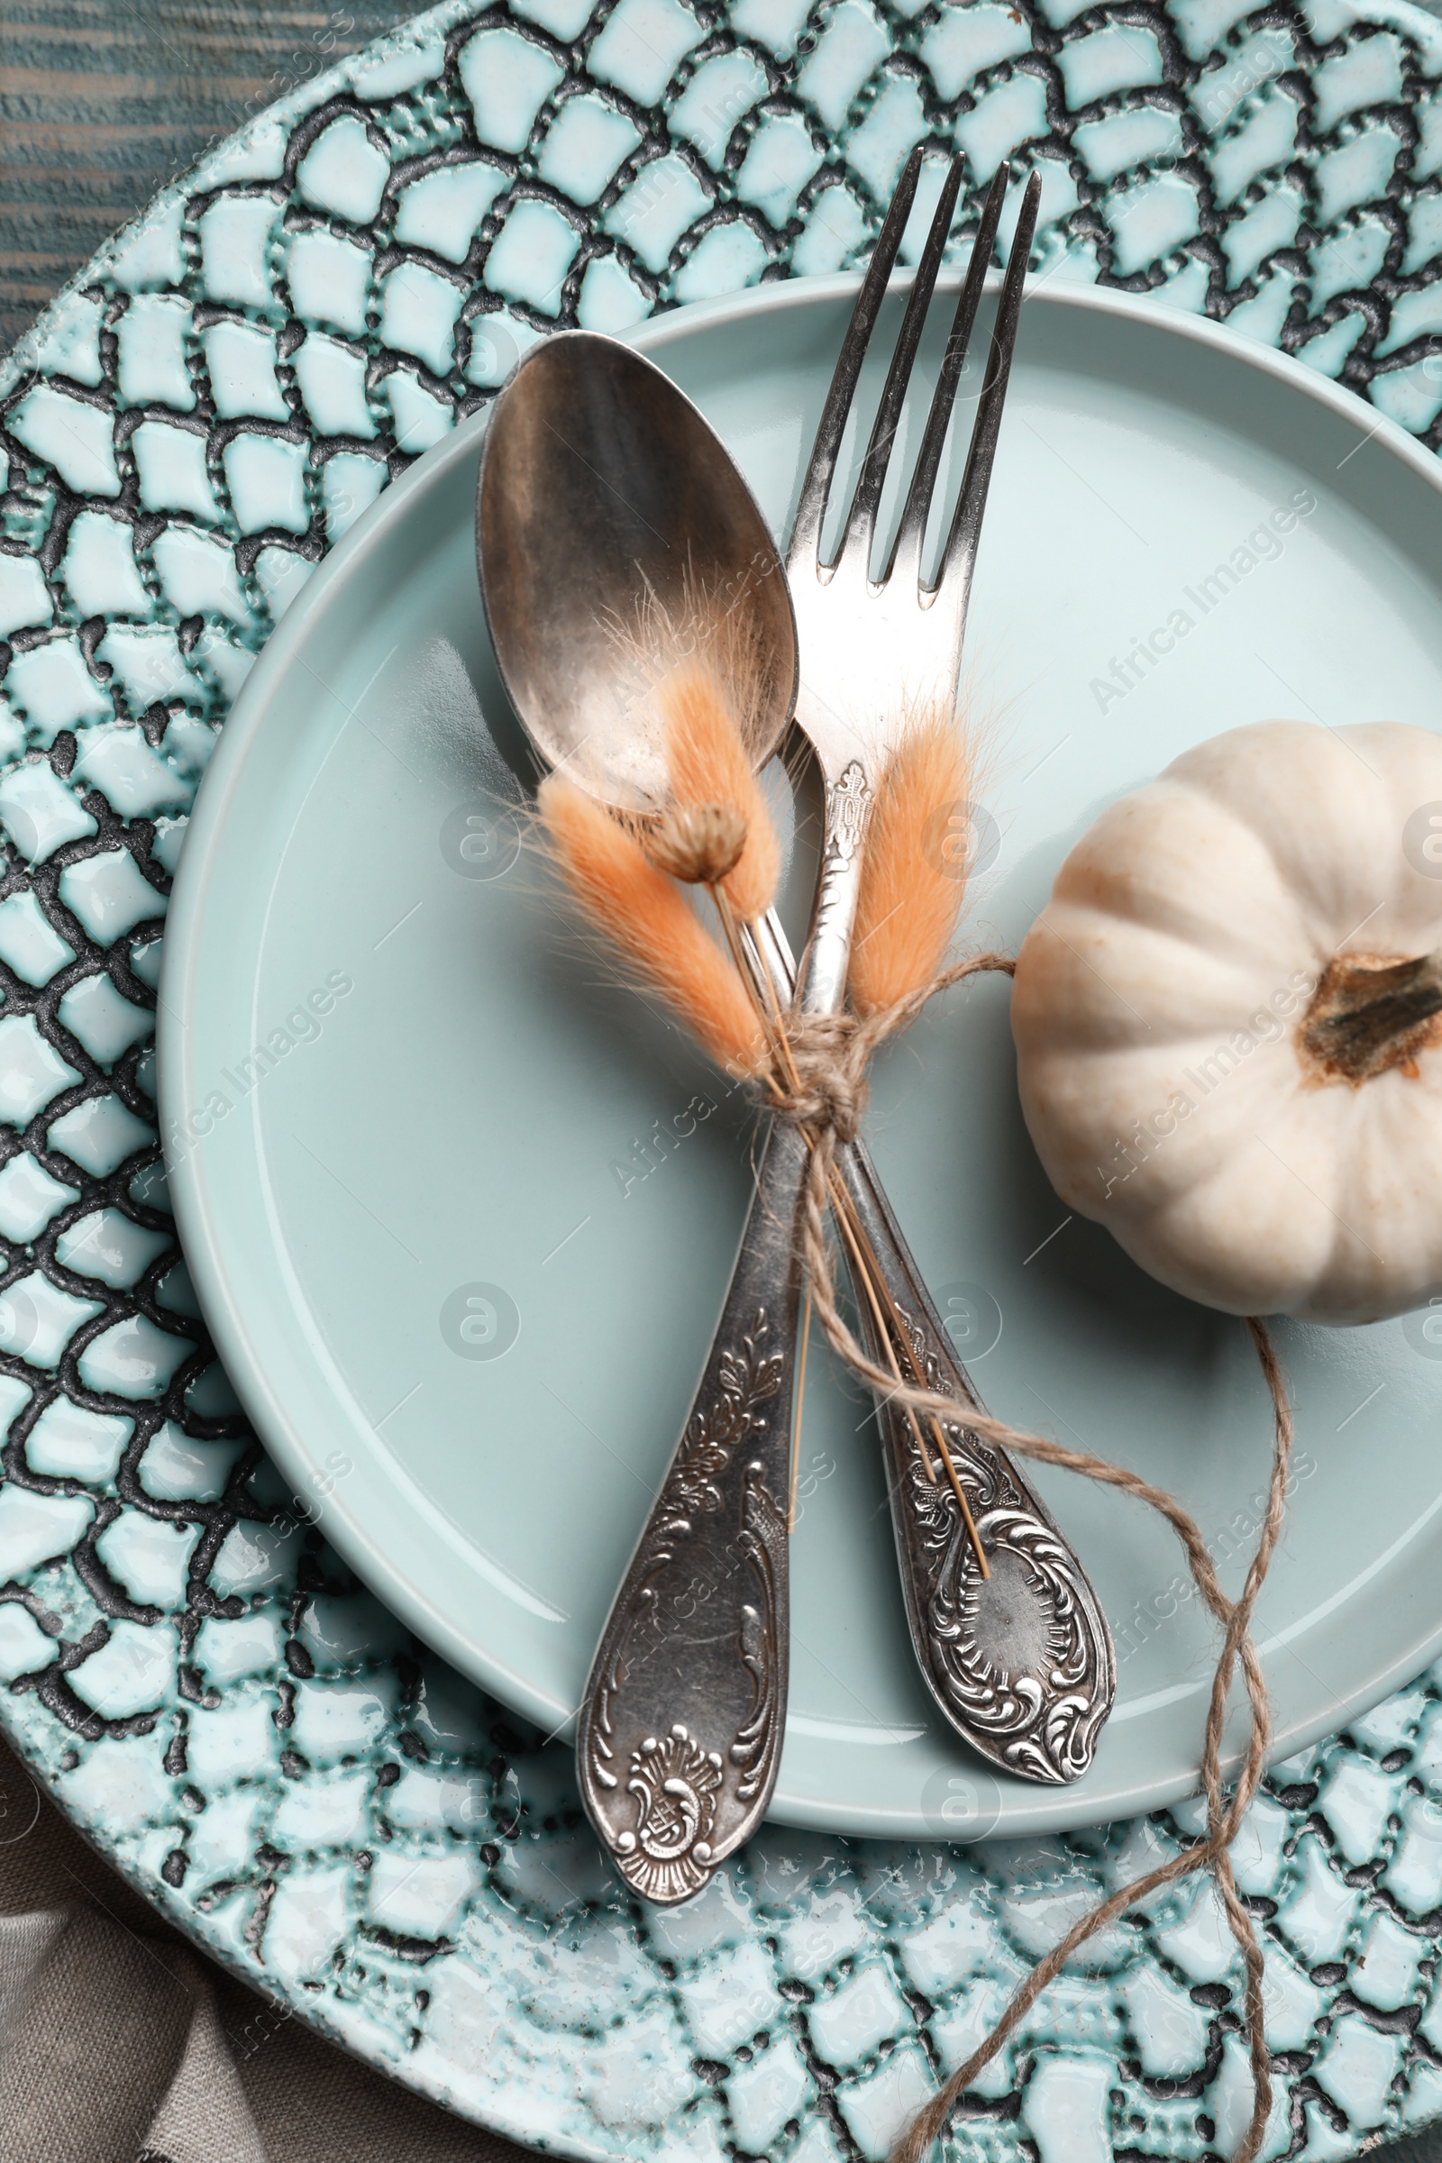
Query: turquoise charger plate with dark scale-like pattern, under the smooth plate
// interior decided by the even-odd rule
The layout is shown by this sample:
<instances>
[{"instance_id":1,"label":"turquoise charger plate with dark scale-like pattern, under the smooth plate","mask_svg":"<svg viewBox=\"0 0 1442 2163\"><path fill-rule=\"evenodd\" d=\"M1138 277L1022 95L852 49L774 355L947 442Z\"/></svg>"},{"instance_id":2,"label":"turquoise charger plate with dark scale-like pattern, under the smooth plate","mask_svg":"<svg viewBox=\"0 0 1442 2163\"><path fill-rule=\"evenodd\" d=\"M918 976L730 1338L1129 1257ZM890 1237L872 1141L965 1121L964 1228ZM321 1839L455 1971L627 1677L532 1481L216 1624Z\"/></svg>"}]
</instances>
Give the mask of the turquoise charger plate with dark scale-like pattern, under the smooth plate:
<instances>
[{"instance_id":1,"label":"turquoise charger plate with dark scale-like pattern, under the smooth plate","mask_svg":"<svg viewBox=\"0 0 1442 2163\"><path fill-rule=\"evenodd\" d=\"M977 1849L767 1828L687 1910L620 1897L564 1748L357 1590L192 1313L147 1045L214 729L326 547L532 335L845 266L921 136L977 186L1029 145L1042 268L1284 344L1431 448L1438 78L1438 26L1381 0L452 4L166 190L0 374L6 1730L199 1942L519 2139L880 2157L1025 1962L1198 1817ZM1423 1678L1273 1769L1239 1841L1269 2154L1442 2113L1440 1698ZM956 2154L1237 2137L1209 1893L1092 1962Z\"/></svg>"}]
</instances>

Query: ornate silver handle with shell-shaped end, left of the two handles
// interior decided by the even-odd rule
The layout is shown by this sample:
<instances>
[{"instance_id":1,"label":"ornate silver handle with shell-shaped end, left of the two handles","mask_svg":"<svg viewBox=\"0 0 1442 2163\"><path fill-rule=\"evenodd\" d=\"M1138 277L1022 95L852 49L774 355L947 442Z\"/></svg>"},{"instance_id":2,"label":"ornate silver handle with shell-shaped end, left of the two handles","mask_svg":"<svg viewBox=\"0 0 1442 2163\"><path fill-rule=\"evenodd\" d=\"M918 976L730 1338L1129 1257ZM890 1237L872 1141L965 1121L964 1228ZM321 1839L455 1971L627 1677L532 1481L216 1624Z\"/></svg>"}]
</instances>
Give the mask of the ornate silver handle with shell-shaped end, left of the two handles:
<instances>
[{"instance_id":1,"label":"ornate silver handle with shell-shaped end, left of the two handles","mask_svg":"<svg viewBox=\"0 0 1442 2163\"><path fill-rule=\"evenodd\" d=\"M787 1501L806 1144L772 1127L692 1415L579 1707L582 1797L644 1899L765 1817L787 1720Z\"/></svg>"}]
</instances>

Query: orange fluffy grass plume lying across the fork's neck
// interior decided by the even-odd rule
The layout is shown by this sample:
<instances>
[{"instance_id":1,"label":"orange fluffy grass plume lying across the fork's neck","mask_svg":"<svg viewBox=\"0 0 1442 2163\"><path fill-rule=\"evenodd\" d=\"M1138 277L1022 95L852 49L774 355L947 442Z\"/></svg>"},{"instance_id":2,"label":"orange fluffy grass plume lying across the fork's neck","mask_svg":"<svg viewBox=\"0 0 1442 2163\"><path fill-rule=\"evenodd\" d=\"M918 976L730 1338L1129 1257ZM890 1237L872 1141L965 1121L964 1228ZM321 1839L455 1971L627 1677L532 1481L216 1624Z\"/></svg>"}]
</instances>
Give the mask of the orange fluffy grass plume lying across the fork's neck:
<instances>
[{"instance_id":1,"label":"orange fluffy grass plume lying across the fork's neck","mask_svg":"<svg viewBox=\"0 0 1442 2163\"><path fill-rule=\"evenodd\" d=\"M856 906L847 986L858 1014L919 991L940 969L966 895L971 746L943 714L912 718L882 779Z\"/></svg>"}]
</instances>

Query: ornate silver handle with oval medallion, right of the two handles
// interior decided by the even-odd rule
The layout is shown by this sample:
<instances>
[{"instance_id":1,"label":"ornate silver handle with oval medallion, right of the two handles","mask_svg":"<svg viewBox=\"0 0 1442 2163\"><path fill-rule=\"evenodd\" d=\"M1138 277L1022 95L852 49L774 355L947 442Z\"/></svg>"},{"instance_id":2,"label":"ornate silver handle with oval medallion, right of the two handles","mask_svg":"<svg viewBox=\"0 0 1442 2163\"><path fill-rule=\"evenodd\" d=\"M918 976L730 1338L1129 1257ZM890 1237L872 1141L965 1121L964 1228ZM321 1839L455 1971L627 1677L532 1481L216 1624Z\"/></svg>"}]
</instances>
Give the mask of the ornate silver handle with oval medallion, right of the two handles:
<instances>
[{"instance_id":1,"label":"ornate silver handle with oval medallion, right of the two handles","mask_svg":"<svg viewBox=\"0 0 1442 2163\"><path fill-rule=\"evenodd\" d=\"M1025 1780L1077 1780L1116 1696L1107 1618L1046 1503L1005 1449L966 1428L966 1408L982 1410L982 1399L871 1159L854 1144L837 1164L927 1386L958 1399L960 1417L943 1423L943 1434L990 1566L982 1577L930 1423L917 1421L919 1447L912 1423L882 1397L876 1417L917 1663L951 1726L992 1765ZM867 1300L858 1309L880 1361L886 1348L876 1317Z\"/></svg>"}]
</instances>

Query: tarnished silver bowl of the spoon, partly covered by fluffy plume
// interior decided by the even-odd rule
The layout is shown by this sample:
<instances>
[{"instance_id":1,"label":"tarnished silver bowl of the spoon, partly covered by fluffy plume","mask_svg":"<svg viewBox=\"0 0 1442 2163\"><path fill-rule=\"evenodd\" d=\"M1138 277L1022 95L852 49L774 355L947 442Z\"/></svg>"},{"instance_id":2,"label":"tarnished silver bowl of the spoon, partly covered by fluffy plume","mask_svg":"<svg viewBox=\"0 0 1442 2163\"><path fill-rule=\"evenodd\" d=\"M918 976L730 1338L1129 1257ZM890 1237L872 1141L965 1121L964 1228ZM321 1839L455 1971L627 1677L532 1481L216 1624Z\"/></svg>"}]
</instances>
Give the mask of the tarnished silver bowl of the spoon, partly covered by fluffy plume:
<instances>
[{"instance_id":1,"label":"tarnished silver bowl of the spoon, partly covered by fluffy plume","mask_svg":"<svg viewBox=\"0 0 1442 2163\"><path fill-rule=\"evenodd\" d=\"M476 560L510 701L547 766L618 811L666 802L653 690L718 647L755 766L798 692L791 593L716 430L653 361L592 331L532 346L495 400Z\"/></svg>"}]
</instances>

